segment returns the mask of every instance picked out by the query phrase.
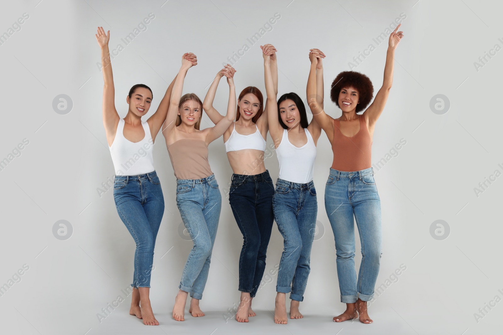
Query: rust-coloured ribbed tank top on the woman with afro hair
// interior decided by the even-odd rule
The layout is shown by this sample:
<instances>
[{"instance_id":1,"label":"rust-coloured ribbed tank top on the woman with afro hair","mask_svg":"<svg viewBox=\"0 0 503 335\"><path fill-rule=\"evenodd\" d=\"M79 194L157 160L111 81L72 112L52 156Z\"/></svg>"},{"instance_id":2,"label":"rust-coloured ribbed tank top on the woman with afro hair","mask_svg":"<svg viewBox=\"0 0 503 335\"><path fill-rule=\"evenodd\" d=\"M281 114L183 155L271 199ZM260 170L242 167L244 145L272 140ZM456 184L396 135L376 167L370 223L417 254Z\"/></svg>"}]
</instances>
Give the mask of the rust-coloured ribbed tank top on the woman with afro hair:
<instances>
[{"instance_id":1,"label":"rust-coloured ribbed tank top on the woman with afro hair","mask_svg":"<svg viewBox=\"0 0 503 335\"><path fill-rule=\"evenodd\" d=\"M332 151L332 169L353 172L372 166L372 140L363 115L360 116L360 131L352 137L343 135L340 121L333 120Z\"/></svg>"}]
</instances>

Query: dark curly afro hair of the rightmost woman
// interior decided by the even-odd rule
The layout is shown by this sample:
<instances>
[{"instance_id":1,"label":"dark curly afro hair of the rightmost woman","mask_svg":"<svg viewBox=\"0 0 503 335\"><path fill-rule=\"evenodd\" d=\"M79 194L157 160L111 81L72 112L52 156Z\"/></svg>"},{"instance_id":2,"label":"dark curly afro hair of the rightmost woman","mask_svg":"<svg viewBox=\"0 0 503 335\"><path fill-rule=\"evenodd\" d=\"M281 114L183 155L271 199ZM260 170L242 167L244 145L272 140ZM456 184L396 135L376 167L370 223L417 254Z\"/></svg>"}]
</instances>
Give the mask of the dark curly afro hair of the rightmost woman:
<instances>
[{"instance_id":1,"label":"dark curly afro hair of the rightmost woman","mask_svg":"<svg viewBox=\"0 0 503 335\"><path fill-rule=\"evenodd\" d=\"M339 106L339 93L343 87L353 86L360 93L359 103L356 106L356 113L364 110L374 97L374 86L369 77L356 71L343 71L332 81L330 99Z\"/></svg>"}]
</instances>

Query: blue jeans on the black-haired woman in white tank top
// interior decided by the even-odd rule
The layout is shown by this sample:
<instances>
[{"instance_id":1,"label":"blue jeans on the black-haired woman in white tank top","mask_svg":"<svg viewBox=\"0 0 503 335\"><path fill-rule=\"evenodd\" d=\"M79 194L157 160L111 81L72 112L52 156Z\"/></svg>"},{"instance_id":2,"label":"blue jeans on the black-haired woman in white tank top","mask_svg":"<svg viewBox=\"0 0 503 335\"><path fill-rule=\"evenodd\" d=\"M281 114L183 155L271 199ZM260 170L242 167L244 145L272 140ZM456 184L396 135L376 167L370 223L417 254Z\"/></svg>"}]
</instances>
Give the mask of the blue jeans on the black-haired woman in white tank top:
<instances>
[{"instance_id":1,"label":"blue jeans on the black-haired woman in white tank top","mask_svg":"<svg viewBox=\"0 0 503 335\"><path fill-rule=\"evenodd\" d=\"M284 239L276 291L291 292L290 299L302 301L311 269L311 246L318 213L313 181L298 184L278 178L273 210Z\"/></svg>"}]
</instances>

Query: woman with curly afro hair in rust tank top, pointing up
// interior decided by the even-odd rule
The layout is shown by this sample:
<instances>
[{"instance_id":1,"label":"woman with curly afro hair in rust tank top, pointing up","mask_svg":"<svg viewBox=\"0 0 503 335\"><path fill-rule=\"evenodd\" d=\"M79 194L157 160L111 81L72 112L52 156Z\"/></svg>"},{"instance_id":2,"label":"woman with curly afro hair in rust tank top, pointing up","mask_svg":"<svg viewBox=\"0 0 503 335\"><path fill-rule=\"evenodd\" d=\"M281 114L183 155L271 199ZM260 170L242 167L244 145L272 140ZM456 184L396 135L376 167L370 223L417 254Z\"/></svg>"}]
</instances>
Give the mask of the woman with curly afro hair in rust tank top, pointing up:
<instances>
[{"instance_id":1,"label":"woman with curly afro hair in rust tank top, pointing up","mask_svg":"<svg viewBox=\"0 0 503 335\"><path fill-rule=\"evenodd\" d=\"M395 49L403 37L403 32L397 32L399 27L389 36L383 84L367 109L374 88L364 74L344 71L333 80L330 97L342 110L338 119L325 114L323 99L317 96L318 83L312 73L307 83L309 107L333 151L333 163L325 186L325 208L336 243L341 302L346 303L346 311L333 318L336 322L357 317L363 323L373 322L367 313L367 301L373 298L379 273L382 233L381 200L371 167L371 148L375 124L393 81ZM321 63L323 57L321 52L311 51L311 70ZM365 110L363 114L357 114L362 110ZM355 220L362 245L358 279L354 260Z\"/></svg>"}]
</instances>

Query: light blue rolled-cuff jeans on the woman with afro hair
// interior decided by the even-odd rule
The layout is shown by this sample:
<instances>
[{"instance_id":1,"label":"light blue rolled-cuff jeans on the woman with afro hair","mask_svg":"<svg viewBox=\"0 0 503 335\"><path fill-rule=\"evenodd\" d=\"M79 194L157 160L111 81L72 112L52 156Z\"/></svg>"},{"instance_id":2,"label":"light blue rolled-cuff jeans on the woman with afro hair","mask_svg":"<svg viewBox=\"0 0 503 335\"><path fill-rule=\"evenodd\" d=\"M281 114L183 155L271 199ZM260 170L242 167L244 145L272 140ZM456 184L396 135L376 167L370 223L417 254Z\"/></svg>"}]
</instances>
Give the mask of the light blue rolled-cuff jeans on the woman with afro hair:
<instances>
[{"instance_id":1,"label":"light blue rolled-cuff jeans on the woman with afro hair","mask_svg":"<svg viewBox=\"0 0 503 335\"><path fill-rule=\"evenodd\" d=\"M374 296L382 254L381 200L372 168L353 172L330 168L325 186L325 208L336 242L341 302L353 303L358 298L369 301ZM355 220L362 246L358 279Z\"/></svg>"}]
</instances>

